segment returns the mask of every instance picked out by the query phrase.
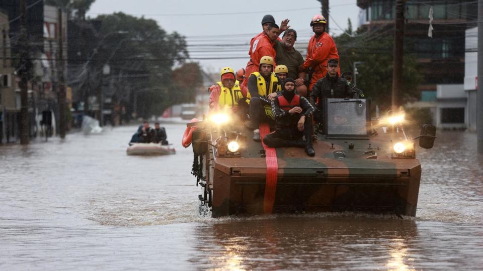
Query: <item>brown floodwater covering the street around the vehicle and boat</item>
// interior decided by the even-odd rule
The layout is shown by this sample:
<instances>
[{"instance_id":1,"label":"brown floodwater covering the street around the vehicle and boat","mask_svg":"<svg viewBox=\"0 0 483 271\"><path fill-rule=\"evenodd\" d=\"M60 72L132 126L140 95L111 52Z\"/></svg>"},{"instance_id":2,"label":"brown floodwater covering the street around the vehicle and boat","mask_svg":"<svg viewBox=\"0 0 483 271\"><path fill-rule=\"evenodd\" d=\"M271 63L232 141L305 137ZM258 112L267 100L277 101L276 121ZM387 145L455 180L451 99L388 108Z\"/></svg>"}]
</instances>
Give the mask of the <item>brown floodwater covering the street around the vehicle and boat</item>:
<instances>
[{"instance_id":1,"label":"brown floodwater covering the street around the vehicle and boat","mask_svg":"<svg viewBox=\"0 0 483 271\"><path fill-rule=\"evenodd\" d=\"M213 219L198 212L182 124L177 154L130 157L135 126L0 146L0 269L459 269L483 266L476 135L419 150L416 218L354 213Z\"/></svg>"}]
</instances>

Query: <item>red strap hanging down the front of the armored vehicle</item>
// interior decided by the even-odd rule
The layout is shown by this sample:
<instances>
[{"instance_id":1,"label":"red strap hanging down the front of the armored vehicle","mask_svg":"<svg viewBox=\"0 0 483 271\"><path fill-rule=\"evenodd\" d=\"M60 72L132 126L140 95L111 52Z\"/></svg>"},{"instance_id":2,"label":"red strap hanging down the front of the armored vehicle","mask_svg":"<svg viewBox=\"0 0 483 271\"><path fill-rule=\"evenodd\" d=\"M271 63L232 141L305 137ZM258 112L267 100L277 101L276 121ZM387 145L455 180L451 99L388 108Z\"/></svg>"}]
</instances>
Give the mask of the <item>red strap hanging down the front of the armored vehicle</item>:
<instances>
[{"instance_id":1,"label":"red strap hanging down the front of the armored vehicle","mask_svg":"<svg viewBox=\"0 0 483 271\"><path fill-rule=\"evenodd\" d=\"M267 164L267 176L265 178L265 195L263 198L263 212L272 213L277 192L278 162L275 148L270 148L263 143L263 138L270 133L270 126L267 123L260 123L260 137L265 149L265 163Z\"/></svg>"}]
</instances>

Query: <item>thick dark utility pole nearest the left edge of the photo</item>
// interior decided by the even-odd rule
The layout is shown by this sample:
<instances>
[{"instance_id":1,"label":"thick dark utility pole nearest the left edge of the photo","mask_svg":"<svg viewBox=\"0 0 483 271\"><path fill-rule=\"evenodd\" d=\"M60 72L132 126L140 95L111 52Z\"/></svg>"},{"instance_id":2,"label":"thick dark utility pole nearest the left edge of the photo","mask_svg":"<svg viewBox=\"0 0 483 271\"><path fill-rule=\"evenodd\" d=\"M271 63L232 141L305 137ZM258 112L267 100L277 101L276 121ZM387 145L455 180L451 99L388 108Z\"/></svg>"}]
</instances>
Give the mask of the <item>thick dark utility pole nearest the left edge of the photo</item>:
<instances>
[{"instance_id":1,"label":"thick dark utility pole nearest the left edge of the photo","mask_svg":"<svg viewBox=\"0 0 483 271\"><path fill-rule=\"evenodd\" d=\"M27 9L25 0L20 0L20 144L29 144L29 97L28 97L28 73L29 73L29 45L27 35Z\"/></svg>"}]
</instances>

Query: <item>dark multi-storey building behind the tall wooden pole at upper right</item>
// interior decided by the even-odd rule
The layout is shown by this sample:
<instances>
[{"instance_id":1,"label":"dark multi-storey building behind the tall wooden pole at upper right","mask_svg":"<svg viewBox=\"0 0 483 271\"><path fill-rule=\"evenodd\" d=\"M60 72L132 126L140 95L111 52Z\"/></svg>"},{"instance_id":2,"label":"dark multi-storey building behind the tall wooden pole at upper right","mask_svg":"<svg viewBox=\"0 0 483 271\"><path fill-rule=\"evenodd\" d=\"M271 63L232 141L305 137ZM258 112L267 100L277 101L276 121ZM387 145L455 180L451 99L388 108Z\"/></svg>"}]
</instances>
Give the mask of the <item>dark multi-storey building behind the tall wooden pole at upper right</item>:
<instances>
[{"instance_id":1,"label":"dark multi-storey building behind the tall wooden pole at upper right","mask_svg":"<svg viewBox=\"0 0 483 271\"><path fill-rule=\"evenodd\" d=\"M358 0L360 25L393 25L395 1ZM432 37L429 16L432 11ZM465 29L476 25L477 3L471 0L406 1L405 48L414 52L424 76L419 86L423 100L436 98L438 84L462 84Z\"/></svg>"}]
</instances>

